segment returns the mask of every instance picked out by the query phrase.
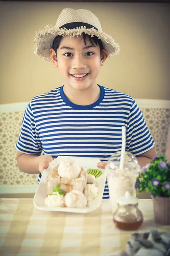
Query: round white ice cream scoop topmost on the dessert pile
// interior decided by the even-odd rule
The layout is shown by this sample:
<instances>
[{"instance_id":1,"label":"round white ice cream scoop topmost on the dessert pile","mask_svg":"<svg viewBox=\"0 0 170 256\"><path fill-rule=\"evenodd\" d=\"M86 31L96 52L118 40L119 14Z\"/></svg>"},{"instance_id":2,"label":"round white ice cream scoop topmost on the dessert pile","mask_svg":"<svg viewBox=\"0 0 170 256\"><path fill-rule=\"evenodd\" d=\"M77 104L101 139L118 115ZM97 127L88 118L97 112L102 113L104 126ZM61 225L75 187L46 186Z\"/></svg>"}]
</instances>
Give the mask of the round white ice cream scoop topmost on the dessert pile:
<instances>
[{"instance_id":1,"label":"round white ice cream scoop topmost on the dessert pile","mask_svg":"<svg viewBox=\"0 0 170 256\"><path fill-rule=\"evenodd\" d=\"M59 164L58 174L62 178L76 179L81 171L81 167L74 160L67 158Z\"/></svg>"}]
</instances>

